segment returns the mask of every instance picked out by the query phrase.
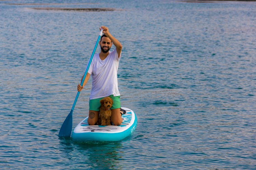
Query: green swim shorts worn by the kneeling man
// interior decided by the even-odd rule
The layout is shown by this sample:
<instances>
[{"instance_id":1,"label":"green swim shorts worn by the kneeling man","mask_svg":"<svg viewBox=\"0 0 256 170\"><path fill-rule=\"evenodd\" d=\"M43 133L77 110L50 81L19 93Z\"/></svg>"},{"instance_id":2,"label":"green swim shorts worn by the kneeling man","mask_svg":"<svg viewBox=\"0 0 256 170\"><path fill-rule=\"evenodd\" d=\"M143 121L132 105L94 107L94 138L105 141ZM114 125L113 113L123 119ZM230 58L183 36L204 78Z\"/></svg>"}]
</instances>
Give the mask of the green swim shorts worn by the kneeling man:
<instances>
[{"instance_id":1,"label":"green swim shorts worn by the kneeling man","mask_svg":"<svg viewBox=\"0 0 256 170\"><path fill-rule=\"evenodd\" d=\"M116 108L120 108L120 96L115 96L114 95L110 95L109 96L112 100L113 100L113 104L112 107L110 109L116 109ZM99 98L99 99L92 99L89 100L89 110L90 111L100 111L100 100L103 99Z\"/></svg>"}]
</instances>

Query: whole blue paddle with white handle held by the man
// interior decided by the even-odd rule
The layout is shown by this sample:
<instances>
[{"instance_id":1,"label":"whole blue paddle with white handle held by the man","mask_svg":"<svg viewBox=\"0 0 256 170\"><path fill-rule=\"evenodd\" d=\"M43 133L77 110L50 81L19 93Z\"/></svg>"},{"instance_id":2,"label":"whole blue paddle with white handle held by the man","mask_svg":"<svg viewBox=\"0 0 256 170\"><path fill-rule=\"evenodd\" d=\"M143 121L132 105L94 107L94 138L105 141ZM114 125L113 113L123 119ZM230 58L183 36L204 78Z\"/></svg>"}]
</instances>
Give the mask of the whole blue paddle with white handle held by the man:
<instances>
[{"instance_id":1,"label":"whole blue paddle with white handle held by the man","mask_svg":"<svg viewBox=\"0 0 256 170\"><path fill-rule=\"evenodd\" d=\"M102 35L102 31L103 31L103 29L101 29L101 31L100 31L100 35L99 35L98 40L96 42L96 45L94 47L93 53L91 54L90 60L89 60L88 65L87 65L87 67L85 69L84 77L83 77L83 80L81 81L81 86L83 86L83 84L84 84L84 79L86 77L86 73L88 72L88 69L90 67L91 61L93 60L93 56L94 56L94 53L96 51L97 45L99 44L100 37ZM71 131L72 131L72 121L73 121L72 114L73 114L73 110L75 108L76 101L77 101L77 99L79 97L79 94L80 94L80 91L77 91L77 94L76 94L76 97L75 97L75 101L73 103L71 111L68 114L68 116L66 117L65 121L62 123L62 126L60 128L59 135L58 135L59 137L70 138Z\"/></svg>"}]
</instances>

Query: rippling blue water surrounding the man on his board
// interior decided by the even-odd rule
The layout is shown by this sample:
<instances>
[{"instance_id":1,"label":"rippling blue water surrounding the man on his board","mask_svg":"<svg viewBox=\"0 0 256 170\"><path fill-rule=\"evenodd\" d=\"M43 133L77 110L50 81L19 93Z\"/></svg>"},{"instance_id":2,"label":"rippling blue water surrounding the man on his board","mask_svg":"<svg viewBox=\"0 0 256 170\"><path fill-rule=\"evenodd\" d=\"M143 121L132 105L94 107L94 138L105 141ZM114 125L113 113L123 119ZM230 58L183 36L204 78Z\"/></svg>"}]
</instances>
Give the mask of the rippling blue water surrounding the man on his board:
<instances>
[{"instance_id":1,"label":"rippling blue water surrounding the man on his board","mask_svg":"<svg viewBox=\"0 0 256 170\"><path fill-rule=\"evenodd\" d=\"M255 8L0 1L1 169L255 169ZM59 139L101 25L123 45L121 104L137 114L137 129L118 142ZM90 85L79 97L73 128L88 114L89 92Z\"/></svg>"}]
</instances>

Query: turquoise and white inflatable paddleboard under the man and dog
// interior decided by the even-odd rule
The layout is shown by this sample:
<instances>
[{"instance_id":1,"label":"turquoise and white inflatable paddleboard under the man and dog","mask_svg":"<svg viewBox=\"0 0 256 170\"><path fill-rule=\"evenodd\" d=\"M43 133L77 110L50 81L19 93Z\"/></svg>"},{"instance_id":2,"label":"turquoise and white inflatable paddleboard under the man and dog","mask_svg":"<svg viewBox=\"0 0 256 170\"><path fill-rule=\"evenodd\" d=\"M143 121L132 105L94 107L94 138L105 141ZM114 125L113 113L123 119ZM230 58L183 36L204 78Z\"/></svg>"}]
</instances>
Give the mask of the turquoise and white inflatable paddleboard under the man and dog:
<instances>
[{"instance_id":1,"label":"turquoise and white inflatable paddleboard under the man and dog","mask_svg":"<svg viewBox=\"0 0 256 170\"><path fill-rule=\"evenodd\" d=\"M87 117L75 127L71 138L75 141L117 141L126 138L136 129L137 117L131 109L125 107L122 109L126 114L122 115L121 125L89 125Z\"/></svg>"}]
</instances>

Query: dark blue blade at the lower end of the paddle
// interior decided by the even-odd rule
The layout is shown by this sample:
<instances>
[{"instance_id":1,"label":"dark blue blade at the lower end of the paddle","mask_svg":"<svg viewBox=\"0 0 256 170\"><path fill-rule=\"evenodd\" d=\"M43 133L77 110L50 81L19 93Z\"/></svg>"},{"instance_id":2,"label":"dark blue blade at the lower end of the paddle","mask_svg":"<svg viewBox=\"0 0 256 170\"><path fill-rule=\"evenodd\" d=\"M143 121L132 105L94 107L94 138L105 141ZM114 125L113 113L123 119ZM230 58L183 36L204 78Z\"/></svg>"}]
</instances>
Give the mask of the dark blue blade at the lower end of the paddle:
<instances>
[{"instance_id":1,"label":"dark blue blade at the lower end of the paddle","mask_svg":"<svg viewBox=\"0 0 256 170\"><path fill-rule=\"evenodd\" d=\"M63 122L60 131L59 131L59 137L64 137L64 138L70 138L71 131L72 131L72 114L73 110L71 109L70 113L66 117L65 121Z\"/></svg>"}]
</instances>

